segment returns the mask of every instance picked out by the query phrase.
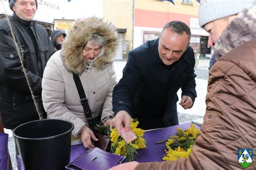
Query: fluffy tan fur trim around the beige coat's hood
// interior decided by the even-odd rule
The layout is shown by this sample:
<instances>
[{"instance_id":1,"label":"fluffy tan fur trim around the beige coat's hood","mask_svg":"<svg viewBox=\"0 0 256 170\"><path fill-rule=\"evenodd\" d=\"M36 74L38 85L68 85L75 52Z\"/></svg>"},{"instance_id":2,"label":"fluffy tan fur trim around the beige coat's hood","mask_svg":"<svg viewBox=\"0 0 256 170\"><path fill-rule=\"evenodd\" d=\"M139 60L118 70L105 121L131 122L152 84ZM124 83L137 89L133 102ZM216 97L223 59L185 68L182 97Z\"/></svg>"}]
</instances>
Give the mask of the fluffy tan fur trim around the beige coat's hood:
<instances>
[{"instance_id":1,"label":"fluffy tan fur trim around the beige coat's hood","mask_svg":"<svg viewBox=\"0 0 256 170\"><path fill-rule=\"evenodd\" d=\"M103 70L113 62L118 46L118 36L114 25L97 17L78 19L69 30L62 46L64 65L70 72L82 74L86 68L87 62L82 53L92 33L97 33L104 38L104 53L98 56L92 67Z\"/></svg>"}]
</instances>

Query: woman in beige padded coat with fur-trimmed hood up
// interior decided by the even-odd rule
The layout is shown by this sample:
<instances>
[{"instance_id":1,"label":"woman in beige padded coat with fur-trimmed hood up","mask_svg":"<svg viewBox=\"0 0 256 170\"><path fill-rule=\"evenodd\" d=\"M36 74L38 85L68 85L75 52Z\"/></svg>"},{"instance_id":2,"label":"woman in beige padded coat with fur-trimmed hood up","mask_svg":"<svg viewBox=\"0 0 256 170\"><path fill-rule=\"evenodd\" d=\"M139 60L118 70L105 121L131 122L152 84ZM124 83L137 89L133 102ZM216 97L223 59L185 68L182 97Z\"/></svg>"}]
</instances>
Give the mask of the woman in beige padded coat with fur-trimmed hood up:
<instances>
[{"instance_id":1,"label":"woman in beige padded coat with fur-trimmed hood up","mask_svg":"<svg viewBox=\"0 0 256 170\"><path fill-rule=\"evenodd\" d=\"M89 127L100 121L112 126L112 91L117 83L113 57L117 45L117 32L111 23L96 17L79 19L44 70L42 99L48 118L71 121L75 125L72 135L79 136L88 148L94 147L91 139L97 140ZM88 99L84 107L74 76L79 77Z\"/></svg>"}]
</instances>

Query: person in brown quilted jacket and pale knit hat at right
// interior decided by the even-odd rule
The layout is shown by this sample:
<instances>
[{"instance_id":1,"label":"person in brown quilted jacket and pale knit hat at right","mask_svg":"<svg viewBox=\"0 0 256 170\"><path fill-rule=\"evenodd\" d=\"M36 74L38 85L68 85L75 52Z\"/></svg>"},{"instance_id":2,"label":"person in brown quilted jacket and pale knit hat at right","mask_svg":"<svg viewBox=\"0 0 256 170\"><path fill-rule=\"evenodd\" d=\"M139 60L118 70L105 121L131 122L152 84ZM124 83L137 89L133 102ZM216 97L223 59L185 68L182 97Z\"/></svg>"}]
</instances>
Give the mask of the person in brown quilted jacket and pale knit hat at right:
<instances>
[{"instance_id":1,"label":"person in brown quilted jacket and pale knit hat at right","mask_svg":"<svg viewBox=\"0 0 256 170\"><path fill-rule=\"evenodd\" d=\"M215 48L201 134L190 157L176 161L136 161L116 169L242 169L238 148L252 148L256 169L256 6L253 1L203 1L199 25ZM251 155L251 156L252 156Z\"/></svg>"}]
</instances>

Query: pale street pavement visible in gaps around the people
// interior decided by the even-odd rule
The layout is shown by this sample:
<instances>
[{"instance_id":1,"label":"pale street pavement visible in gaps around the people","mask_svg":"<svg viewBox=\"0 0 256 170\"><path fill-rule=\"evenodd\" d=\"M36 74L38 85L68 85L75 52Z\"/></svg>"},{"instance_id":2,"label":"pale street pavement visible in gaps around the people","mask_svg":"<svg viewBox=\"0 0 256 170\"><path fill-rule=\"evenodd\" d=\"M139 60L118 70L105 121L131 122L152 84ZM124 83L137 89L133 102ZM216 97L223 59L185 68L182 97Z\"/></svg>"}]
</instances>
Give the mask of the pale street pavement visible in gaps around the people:
<instances>
[{"instance_id":1,"label":"pale street pavement visible in gaps around the people","mask_svg":"<svg viewBox=\"0 0 256 170\"><path fill-rule=\"evenodd\" d=\"M122 70L126 64L126 61L114 61L114 69L116 70L117 81L122 78ZM179 101L177 103L179 124L191 122L194 119L202 118L205 114L206 104L205 96L207 93L207 80L208 80L208 64L209 59L199 59L197 68L195 68L196 77L196 90L197 98L191 109L183 109L178 103L181 98L181 90L178 91ZM12 167L17 169L16 159L15 159L15 143L14 137L12 136L11 130L4 129L5 133L9 134L8 148L11 156Z\"/></svg>"}]
</instances>

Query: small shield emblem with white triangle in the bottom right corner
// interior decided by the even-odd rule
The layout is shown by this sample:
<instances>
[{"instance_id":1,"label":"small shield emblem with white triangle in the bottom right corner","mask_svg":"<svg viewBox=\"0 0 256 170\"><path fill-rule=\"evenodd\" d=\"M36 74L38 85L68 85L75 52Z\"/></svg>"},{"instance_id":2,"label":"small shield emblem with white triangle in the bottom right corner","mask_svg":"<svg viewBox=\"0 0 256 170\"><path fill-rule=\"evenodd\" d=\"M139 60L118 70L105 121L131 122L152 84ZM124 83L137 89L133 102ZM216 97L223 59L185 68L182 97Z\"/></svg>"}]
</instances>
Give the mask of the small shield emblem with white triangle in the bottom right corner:
<instances>
[{"instance_id":1,"label":"small shield emblem with white triangle in the bottom right corner","mask_svg":"<svg viewBox=\"0 0 256 170\"><path fill-rule=\"evenodd\" d=\"M252 164L253 149L252 148L238 148L237 159L241 167L247 168Z\"/></svg>"}]
</instances>

